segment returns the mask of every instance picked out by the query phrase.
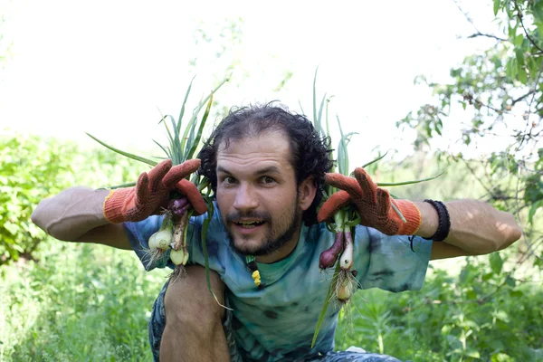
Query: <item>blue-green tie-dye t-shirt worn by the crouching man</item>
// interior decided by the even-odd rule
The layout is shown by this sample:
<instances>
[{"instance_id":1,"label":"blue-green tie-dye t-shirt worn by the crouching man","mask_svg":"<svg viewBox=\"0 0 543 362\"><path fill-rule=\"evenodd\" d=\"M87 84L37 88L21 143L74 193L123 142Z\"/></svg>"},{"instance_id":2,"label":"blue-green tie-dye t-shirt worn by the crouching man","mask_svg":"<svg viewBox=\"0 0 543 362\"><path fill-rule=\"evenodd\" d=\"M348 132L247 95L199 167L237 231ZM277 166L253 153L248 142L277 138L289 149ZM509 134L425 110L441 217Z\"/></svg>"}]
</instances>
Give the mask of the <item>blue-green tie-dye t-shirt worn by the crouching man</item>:
<instances>
[{"instance_id":1,"label":"blue-green tie-dye t-shirt worn by the crouching man","mask_svg":"<svg viewBox=\"0 0 543 362\"><path fill-rule=\"evenodd\" d=\"M204 219L205 215L193 217L189 224L190 263L204 265L200 238ZM148 238L161 222L160 216L151 216L125 224L129 240L147 270L173 267L171 262L148 265ZM287 258L271 264L258 263L262 289L252 281L245 257L231 247L217 209L206 239L210 268L220 274L227 287L226 303L233 309L233 333L243 359L289 360L325 354L334 348L339 309L333 304L323 319L315 347L310 348L332 275L331 270L319 270L320 252L334 241L324 224L302 226L299 243ZM357 226L351 270L357 270L360 289L420 290L432 242L420 237L411 239Z\"/></svg>"}]
</instances>

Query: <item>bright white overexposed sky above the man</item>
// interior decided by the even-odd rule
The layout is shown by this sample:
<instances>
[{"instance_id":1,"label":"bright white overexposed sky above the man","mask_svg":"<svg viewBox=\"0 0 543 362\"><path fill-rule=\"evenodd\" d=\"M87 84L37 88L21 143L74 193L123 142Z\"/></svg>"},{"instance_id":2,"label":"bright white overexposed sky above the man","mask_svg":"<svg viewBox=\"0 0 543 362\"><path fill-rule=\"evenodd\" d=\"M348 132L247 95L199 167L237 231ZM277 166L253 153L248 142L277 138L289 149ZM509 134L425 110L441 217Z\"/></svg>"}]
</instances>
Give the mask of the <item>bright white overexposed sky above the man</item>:
<instances>
[{"instance_id":1,"label":"bright white overexposed sky above the man","mask_svg":"<svg viewBox=\"0 0 543 362\"><path fill-rule=\"evenodd\" d=\"M0 71L0 129L91 144L88 131L119 148L152 148L151 138L164 135L158 109L177 115L195 74L199 97L235 62L233 81L215 95L221 105L281 100L300 111L300 100L309 113L319 66L320 94L335 96L332 115L346 131L361 133L353 157L367 161L377 146L408 152L411 138L395 121L429 97L414 87L414 77L446 81L451 66L481 46L457 39L473 29L452 0L0 0L0 6L1 49L13 42ZM484 30L491 1L462 6ZM224 43L219 30L237 17L241 42ZM197 27L212 43L195 44ZM216 59L221 46L226 51ZM273 91L286 71L291 80Z\"/></svg>"}]
</instances>

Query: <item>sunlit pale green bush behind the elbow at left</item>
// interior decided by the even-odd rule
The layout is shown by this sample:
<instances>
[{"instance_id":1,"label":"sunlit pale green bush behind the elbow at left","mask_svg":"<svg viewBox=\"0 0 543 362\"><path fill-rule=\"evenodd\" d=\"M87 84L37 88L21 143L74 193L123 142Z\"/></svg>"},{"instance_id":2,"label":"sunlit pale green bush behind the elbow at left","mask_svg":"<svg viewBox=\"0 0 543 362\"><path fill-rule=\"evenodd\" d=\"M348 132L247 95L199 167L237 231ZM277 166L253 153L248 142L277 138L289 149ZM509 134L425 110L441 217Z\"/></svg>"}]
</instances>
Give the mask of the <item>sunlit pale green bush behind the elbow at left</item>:
<instances>
[{"instance_id":1,"label":"sunlit pale green bush behind the elbow at left","mask_svg":"<svg viewBox=\"0 0 543 362\"><path fill-rule=\"evenodd\" d=\"M106 150L84 155L75 144L52 138L0 138L0 264L21 255L32 257L45 238L30 220L43 198L69 186L103 187L114 180L136 179L134 162L118 158Z\"/></svg>"}]
</instances>

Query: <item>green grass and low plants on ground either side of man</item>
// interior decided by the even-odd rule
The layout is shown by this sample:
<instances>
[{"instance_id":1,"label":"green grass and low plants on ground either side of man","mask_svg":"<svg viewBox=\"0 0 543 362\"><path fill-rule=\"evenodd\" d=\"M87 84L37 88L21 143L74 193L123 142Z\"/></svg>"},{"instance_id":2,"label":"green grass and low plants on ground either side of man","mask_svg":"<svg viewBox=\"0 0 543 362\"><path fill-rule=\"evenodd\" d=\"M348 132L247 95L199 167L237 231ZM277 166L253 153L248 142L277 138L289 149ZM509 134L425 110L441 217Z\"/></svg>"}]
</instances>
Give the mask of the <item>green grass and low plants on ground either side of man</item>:
<instances>
[{"instance_id":1,"label":"green grass and low plants on ground either side of man","mask_svg":"<svg viewBox=\"0 0 543 362\"><path fill-rule=\"evenodd\" d=\"M148 317L168 271L146 273L132 252L101 245L47 240L37 255L0 269L0 361L152 360ZM460 275L433 271L420 292L358 292L336 347L423 362L543 360L543 288L507 275L472 258Z\"/></svg>"}]
</instances>

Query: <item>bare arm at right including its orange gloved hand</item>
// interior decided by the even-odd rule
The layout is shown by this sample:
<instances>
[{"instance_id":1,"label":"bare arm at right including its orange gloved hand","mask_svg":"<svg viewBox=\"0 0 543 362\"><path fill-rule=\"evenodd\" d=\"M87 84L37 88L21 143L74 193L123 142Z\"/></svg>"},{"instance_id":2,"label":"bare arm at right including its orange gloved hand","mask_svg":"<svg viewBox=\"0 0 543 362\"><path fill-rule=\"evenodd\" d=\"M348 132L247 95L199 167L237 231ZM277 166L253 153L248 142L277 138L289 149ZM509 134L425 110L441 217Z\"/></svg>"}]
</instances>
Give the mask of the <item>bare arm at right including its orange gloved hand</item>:
<instances>
[{"instance_id":1,"label":"bare arm at right including its orange gloved hand","mask_svg":"<svg viewBox=\"0 0 543 362\"><path fill-rule=\"evenodd\" d=\"M408 200L396 200L401 220L393 211L390 195L379 188L362 167L355 177L336 173L326 174L326 183L339 191L320 207L318 220L329 220L344 205L352 203L360 216L360 224L373 227L387 235L431 237L439 224L433 205ZM431 259L452 258L461 255L481 255L496 252L519 240L522 231L509 213L494 209L476 200L458 200L446 203L451 229L443 242L433 243Z\"/></svg>"}]
</instances>

